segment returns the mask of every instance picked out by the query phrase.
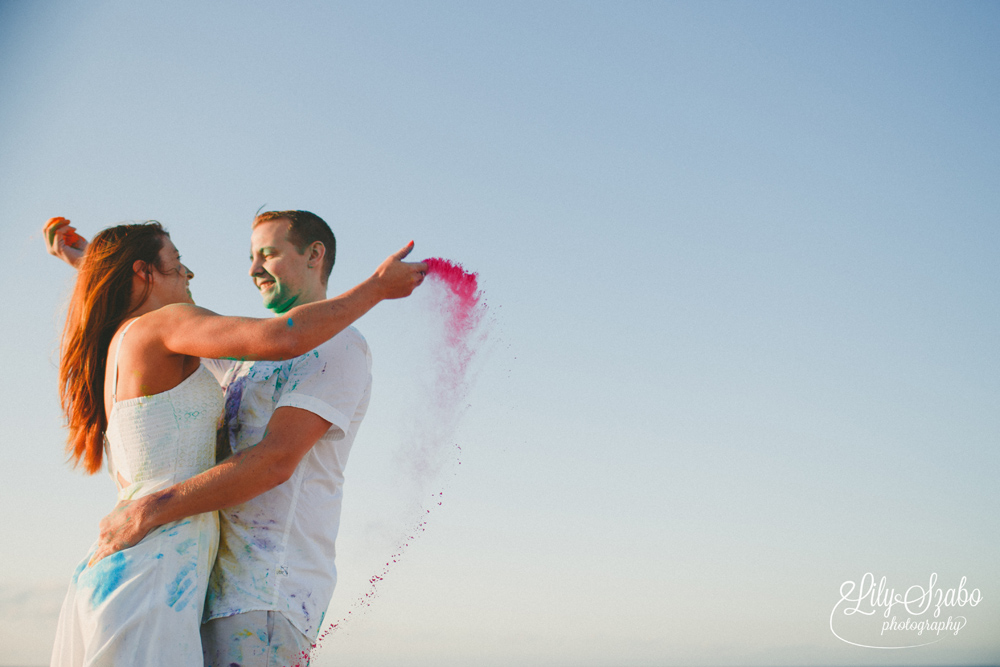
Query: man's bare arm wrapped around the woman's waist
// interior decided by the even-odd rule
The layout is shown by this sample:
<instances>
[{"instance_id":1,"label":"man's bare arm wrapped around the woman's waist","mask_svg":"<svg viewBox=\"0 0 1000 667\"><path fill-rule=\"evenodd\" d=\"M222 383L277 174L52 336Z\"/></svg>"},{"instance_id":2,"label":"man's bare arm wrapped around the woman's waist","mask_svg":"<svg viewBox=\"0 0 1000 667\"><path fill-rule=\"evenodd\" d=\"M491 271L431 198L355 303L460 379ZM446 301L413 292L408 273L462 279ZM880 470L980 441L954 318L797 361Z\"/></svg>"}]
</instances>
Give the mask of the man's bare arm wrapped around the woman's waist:
<instances>
[{"instance_id":1,"label":"man's bare arm wrapped around the woman's waist","mask_svg":"<svg viewBox=\"0 0 1000 667\"><path fill-rule=\"evenodd\" d=\"M330 428L319 415L289 406L274 411L264 439L219 465L132 501L101 520L90 564L138 543L149 531L184 517L239 505L287 481L302 457Z\"/></svg>"}]
</instances>

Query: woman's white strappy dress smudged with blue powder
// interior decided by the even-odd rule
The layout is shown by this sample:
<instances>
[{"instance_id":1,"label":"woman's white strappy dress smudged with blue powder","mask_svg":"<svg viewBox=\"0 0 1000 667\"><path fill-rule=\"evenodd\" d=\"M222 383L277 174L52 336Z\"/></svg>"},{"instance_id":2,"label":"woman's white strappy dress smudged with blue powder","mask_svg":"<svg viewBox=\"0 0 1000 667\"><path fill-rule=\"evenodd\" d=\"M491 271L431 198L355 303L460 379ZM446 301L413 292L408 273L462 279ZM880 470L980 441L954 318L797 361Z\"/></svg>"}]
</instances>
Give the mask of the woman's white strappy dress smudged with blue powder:
<instances>
[{"instance_id":1,"label":"woman's white strappy dress smudged with blue powder","mask_svg":"<svg viewBox=\"0 0 1000 667\"><path fill-rule=\"evenodd\" d=\"M112 395L117 357L116 351ZM116 402L105 454L118 499L139 498L214 465L222 410L222 390L204 366L169 391ZM87 567L97 545L91 547L63 602L52 666L199 667L218 541L218 513L208 512L160 526Z\"/></svg>"}]
</instances>

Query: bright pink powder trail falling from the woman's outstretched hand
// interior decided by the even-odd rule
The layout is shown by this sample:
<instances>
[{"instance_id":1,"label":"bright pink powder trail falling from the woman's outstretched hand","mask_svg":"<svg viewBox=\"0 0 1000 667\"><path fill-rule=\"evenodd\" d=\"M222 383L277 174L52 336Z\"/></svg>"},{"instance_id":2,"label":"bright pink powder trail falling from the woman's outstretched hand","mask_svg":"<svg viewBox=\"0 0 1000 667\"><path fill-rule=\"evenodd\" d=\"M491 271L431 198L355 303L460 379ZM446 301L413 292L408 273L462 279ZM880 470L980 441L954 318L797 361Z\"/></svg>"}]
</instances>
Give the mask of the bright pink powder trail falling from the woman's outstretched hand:
<instances>
[{"instance_id":1,"label":"bright pink powder trail falling from the woman's outstretched hand","mask_svg":"<svg viewBox=\"0 0 1000 667\"><path fill-rule=\"evenodd\" d=\"M469 390L470 369L477 351L487 338L487 327L483 326L487 308L479 289L478 274L439 257L425 259L424 262L427 264L428 284L422 291L427 293L428 298L422 303L429 303L434 315L440 318L443 340L434 345L433 391L427 397L432 405L426 406L427 410L421 415L422 418L430 417L428 421L432 426L421 427L418 424L418 428L414 429L413 442L408 443L407 468L411 476L426 488L440 473L442 456L450 453L458 465L462 463L459 458L462 448L451 440L451 436L462 413L469 407L465 397ZM457 454L449 445L457 449ZM403 533L385 564L369 577L367 592L354 601L345 616L330 623L320 633L314 650L328 636L342 629L348 619L356 618L356 615L352 616L353 611L363 612L371 607L378 595L378 587L389 570L399 562L406 548L427 530L431 510L426 505L442 506L444 491L431 494L430 503L426 502L427 496L422 497L423 511Z\"/></svg>"}]
</instances>

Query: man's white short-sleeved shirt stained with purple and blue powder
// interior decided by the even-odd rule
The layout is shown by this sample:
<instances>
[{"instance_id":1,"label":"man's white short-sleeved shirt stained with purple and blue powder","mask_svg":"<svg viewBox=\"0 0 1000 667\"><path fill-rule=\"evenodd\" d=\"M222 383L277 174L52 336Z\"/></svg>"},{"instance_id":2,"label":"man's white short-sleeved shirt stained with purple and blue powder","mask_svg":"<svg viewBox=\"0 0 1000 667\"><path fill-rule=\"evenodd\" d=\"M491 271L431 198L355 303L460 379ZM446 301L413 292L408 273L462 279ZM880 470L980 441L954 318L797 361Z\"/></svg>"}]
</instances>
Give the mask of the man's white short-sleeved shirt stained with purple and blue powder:
<instances>
[{"instance_id":1,"label":"man's white short-sleeved shirt stained with purple and blue powder","mask_svg":"<svg viewBox=\"0 0 1000 667\"><path fill-rule=\"evenodd\" d=\"M202 363L226 391L233 452L264 438L279 407L308 410L330 429L292 477L241 505L221 510L219 556L205 620L245 611L279 611L315 638L337 580L344 467L371 397L371 353L353 327L288 361Z\"/></svg>"}]
</instances>

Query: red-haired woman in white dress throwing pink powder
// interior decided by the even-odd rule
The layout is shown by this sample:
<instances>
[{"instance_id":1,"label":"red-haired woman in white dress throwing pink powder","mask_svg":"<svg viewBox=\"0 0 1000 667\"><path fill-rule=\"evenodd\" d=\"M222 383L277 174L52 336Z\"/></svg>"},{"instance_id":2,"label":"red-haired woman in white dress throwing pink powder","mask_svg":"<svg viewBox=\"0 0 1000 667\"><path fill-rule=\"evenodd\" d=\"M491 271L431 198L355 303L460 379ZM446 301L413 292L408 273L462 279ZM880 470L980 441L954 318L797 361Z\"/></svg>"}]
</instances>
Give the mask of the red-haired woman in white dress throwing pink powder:
<instances>
[{"instance_id":1,"label":"red-haired woman in white dress throwing pink powder","mask_svg":"<svg viewBox=\"0 0 1000 667\"><path fill-rule=\"evenodd\" d=\"M50 249L72 254L68 221L47 231ZM85 243L77 241L77 251ZM107 456L119 500L211 467L223 399L200 359L308 352L378 301L412 292L425 267L401 261L411 247L340 297L257 320L195 306L194 274L159 223L102 231L75 258L63 333L59 387L71 459L94 473ZM217 542L210 512L160 526L97 562L91 549L63 604L52 664L201 665L199 627Z\"/></svg>"}]
</instances>

